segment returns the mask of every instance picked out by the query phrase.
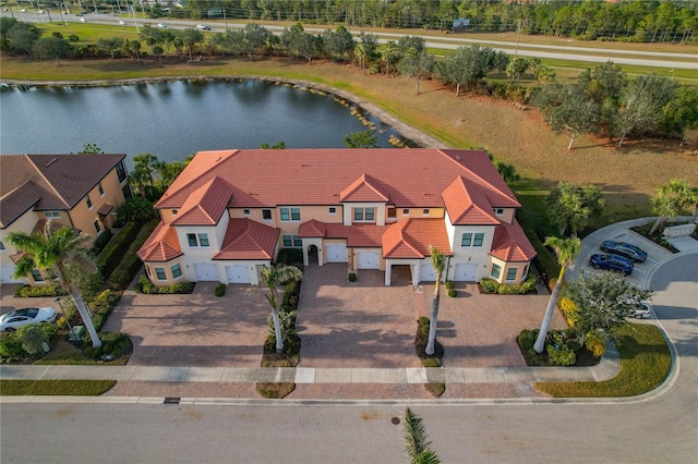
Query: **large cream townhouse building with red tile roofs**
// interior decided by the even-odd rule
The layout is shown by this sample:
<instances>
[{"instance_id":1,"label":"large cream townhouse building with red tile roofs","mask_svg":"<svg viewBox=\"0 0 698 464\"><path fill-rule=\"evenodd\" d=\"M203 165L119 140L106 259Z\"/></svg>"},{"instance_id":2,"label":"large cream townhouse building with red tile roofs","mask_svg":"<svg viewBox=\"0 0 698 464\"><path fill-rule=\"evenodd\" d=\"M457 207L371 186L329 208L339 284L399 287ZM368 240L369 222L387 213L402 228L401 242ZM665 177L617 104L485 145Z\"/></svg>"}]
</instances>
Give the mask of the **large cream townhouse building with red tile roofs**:
<instances>
[{"instance_id":1,"label":"large cream townhouse building with red tile roofs","mask_svg":"<svg viewBox=\"0 0 698 464\"><path fill-rule=\"evenodd\" d=\"M139 252L159 285L258 283L278 249L303 261L381 269L433 281L520 283L535 252L515 219L521 205L484 151L243 149L200 151L155 205L161 221Z\"/></svg>"}]
</instances>

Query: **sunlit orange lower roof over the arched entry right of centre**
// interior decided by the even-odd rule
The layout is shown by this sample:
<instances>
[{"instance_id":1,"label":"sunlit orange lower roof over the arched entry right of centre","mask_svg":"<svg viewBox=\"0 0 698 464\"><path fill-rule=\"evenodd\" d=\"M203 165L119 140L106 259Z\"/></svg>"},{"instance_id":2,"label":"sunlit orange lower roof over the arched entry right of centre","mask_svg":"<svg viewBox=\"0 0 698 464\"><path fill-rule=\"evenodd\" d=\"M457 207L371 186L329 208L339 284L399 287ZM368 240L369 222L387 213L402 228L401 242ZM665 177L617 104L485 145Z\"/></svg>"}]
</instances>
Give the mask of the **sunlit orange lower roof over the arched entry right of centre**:
<instances>
[{"instance_id":1,"label":"sunlit orange lower roof over the arched entry right of centre","mask_svg":"<svg viewBox=\"0 0 698 464\"><path fill-rule=\"evenodd\" d=\"M446 224L443 219L408 219L397 222L383 234L383 257L394 259L425 258L430 245L452 256Z\"/></svg>"}]
</instances>

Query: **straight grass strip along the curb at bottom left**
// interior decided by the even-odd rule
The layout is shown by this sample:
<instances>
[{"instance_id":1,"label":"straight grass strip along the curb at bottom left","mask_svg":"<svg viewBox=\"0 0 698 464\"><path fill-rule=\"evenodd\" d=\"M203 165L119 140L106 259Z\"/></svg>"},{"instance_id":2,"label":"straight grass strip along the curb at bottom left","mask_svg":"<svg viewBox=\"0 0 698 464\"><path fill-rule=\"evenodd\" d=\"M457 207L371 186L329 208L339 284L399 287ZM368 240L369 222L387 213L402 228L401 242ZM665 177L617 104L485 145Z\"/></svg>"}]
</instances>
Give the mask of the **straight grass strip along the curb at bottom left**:
<instances>
[{"instance_id":1,"label":"straight grass strip along the curb at bottom left","mask_svg":"<svg viewBox=\"0 0 698 464\"><path fill-rule=\"evenodd\" d=\"M0 380L0 394L96 396L115 383L116 380Z\"/></svg>"}]
</instances>

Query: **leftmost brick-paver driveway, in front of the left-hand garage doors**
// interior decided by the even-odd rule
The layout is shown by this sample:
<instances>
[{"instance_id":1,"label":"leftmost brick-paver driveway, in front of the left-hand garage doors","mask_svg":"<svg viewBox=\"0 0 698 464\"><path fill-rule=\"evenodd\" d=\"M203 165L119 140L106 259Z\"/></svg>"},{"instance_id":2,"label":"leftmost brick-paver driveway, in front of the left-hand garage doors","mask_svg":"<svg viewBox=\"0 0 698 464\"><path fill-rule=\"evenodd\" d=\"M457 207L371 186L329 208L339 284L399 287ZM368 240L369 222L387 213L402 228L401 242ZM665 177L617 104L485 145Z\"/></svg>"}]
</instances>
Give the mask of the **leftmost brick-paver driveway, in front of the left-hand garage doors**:
<instances>
[{"instance_id":1,"label":"leftmost brick-paver driveway, in front of the left-hand garage doors","mask_svg":"<svg viewBox=\"0 0 698 464\"><path fill-rule=\"evenodd\" d=\"M268 328L264 290L198 282L191 295L142 295L129 290L104 330L123 331L134 343L129 364L144 366L258 367Z\"/></svg>"}]
</instances>

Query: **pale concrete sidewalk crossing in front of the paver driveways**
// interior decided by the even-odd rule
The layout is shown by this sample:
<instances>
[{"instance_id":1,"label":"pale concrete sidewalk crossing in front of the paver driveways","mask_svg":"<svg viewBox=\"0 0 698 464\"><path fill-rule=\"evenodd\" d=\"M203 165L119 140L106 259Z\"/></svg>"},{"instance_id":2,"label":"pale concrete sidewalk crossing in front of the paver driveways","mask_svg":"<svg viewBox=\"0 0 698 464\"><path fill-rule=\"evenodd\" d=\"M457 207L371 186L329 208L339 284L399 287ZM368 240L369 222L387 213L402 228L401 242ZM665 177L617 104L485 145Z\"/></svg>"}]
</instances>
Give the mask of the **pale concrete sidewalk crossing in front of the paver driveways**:
<instances>
[{"instance_id":1,"label":"pale concrete sidewalk crossing in front of the paver driveways","mask_svg":"<svg viewBox=\"0 0 698 464\"><path fill-rule=\"evenodd\" d=\"M117 380L149 382L292 382L292 383L522 383L601 381L621 369L611 343L592 367L466 367L466 368L314 368L314 367L180 367L3 365L3 380Z\"/></svg>"}]
</instances>

